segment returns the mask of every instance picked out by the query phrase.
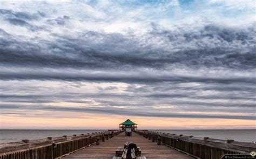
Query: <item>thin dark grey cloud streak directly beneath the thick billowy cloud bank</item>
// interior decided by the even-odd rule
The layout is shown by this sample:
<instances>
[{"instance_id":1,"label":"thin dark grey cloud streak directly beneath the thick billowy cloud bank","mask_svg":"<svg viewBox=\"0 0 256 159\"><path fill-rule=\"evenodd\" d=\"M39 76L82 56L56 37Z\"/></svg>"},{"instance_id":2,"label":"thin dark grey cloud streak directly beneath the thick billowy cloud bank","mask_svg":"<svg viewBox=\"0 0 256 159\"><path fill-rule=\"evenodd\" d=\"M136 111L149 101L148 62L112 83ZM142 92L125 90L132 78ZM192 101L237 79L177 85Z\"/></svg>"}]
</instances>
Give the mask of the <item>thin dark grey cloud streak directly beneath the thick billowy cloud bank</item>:
<instances>
[{"instance_id":1,"label":"thin dark grey cloud streak directly beneath the thick billowy cloud bank","mask_svg":"<svg viewBox=\"0 0 256 159\"><path fill-rule=\"evenodd\" d=\"M149 72L104 72L104 73L95 73L91 72L91 70L87 70L86 73L84 72L72 72L71 71L41 71L41 70L29 70L26 71L18 71L18 72L7 72L2 71L0 72L0 79L8 80L8 79L20 79L20 80L67 80L67 81L109 81L109 82L203 82L208 84L232 84L232 83L247 83L247 84L255 84L255 77L230 77L230 78L223 78L223 77L191 77L185 75L167 75L161 73L152 73Z\"/></svg>"}]
</instances>

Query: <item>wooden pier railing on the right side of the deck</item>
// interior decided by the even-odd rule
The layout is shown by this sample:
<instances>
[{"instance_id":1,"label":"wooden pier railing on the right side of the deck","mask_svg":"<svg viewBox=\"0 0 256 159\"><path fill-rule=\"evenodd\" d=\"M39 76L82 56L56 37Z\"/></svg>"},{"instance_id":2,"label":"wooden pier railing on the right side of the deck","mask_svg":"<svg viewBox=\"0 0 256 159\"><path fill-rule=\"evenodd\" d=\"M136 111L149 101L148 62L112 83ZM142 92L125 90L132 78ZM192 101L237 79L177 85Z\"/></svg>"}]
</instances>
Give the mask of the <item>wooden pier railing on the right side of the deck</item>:
<instances>
[{"instance_id":1,"label":"wooden pier railing on the right side of the deck","mask_svg":"<svg viewBox=\"0 0 256 159\"><path fill-rule=\"evenodd\" d=\"M194 137L169 133L151 132L147 130L135 130L145 138L165 144L178 151L196 158L219 159L226 154L250 154L256 151L256 144L238 142L234 140L210 139L209 137Z\"/></svg>"}]
</instances>

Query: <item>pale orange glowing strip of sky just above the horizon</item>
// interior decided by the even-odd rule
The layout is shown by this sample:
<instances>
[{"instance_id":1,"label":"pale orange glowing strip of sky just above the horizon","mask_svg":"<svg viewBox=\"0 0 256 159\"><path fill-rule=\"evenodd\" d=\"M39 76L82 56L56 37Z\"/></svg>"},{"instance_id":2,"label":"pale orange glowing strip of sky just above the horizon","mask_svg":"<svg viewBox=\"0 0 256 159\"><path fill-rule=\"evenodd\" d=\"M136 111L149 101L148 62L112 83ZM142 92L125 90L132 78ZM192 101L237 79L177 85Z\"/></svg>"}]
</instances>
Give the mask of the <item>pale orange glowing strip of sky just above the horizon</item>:
<instances>
[{"instance_id":1,"label":"pale orange glowing strip of sky just above the horizon","mask_svg":"<svg viewBox=\"0 0 256 159\"><path fill-rule=\"evenodd\" d=\"M55 112L55 114L63 112ZM139 129L255 129L254 120L140 117L92 113L69 113L67 117L1 115L1 129L118 129L131 119Z\"/></svg>"}]
</instances>

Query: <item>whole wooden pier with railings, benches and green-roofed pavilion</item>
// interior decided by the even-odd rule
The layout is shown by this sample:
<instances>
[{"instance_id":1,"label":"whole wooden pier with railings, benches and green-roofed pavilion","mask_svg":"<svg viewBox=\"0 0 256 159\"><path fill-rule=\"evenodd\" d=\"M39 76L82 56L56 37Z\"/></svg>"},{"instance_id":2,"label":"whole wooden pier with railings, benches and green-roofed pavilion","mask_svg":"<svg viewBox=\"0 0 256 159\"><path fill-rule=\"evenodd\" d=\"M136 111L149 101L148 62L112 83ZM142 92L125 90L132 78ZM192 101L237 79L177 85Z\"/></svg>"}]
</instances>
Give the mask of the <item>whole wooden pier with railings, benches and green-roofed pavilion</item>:
<instances>
[{"instance_id":1,"label":"whole wooden pier with railings, benches and green-roofed pavilion","mask_svg":"<svg viewBox=\"0 0 256 159\"><path fill-rule=\"evenodd\" d=\"M256 151L254 143L138 130L137 124L127 119L119 130L3 143L0 159L219 159L252 151Z\"/></svg>"}]
</instances>

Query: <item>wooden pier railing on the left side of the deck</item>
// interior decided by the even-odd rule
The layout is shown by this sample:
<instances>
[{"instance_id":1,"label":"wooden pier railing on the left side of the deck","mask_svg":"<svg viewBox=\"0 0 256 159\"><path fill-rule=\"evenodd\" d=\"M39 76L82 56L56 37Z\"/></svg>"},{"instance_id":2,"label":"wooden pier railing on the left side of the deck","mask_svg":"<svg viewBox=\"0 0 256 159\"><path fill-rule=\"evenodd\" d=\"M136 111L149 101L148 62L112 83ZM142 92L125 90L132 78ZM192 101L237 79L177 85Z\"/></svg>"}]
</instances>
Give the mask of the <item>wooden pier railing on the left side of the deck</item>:
<instances>
[{"instance_id":1,"label":"wooden pier railing on the left side of the deck","mask_svg":"<svg viewBox=\"0 0 256 159\"><path fill-rule=\"evenodd\" d=\"M91 144L99 144L118 134L120 130L80 134L62 137L48 137L41 140L22 140L3 143L0 146L0 159L55 159L74 153Z\"/></svg>"}]
</instances>

